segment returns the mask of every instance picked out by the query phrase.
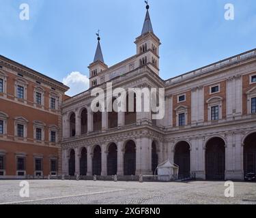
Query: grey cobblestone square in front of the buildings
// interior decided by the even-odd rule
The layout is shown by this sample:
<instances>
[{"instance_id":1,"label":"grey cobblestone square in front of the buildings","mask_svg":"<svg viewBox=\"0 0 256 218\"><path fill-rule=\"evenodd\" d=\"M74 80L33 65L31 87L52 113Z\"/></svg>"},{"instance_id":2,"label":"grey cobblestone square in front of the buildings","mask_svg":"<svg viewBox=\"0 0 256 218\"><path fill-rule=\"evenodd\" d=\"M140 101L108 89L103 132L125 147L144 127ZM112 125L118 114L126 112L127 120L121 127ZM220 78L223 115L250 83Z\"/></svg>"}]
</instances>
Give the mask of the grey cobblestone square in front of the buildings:
<instances>
[{"instance_id":1,"label":"grey cobblestone square in front of the buildings","mask_svg":"<svg viewBox=\"0 0 256 218\"><path fill-rule=\"evenodd\" d=\"M225 198L224 182L28 182L30 197L20 198L20 181L0 181L0 204L256 204L256 183L234 183Z\"/></svg>"}]
</instances>

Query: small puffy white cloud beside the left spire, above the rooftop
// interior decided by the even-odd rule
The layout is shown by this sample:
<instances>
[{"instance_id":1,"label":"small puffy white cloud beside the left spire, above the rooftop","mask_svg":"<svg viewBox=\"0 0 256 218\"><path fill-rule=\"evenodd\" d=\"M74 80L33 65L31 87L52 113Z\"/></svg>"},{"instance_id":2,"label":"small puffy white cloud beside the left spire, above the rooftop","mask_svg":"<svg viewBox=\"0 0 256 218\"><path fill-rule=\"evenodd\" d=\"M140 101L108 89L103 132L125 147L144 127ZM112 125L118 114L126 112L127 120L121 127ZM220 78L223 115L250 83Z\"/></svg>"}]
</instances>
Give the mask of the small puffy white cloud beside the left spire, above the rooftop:
<instances>
[{"instance_id":1,"label":"small puffy white cloud beside the left spire, above the rooftop","mask_svg":"<svg viewBox=\"0 0 256 218\"><path fill-rule=\"evenodd\" d=\"M63 84L70 87L67 95L74 96L89 89L89 78L81 72L72 72L62 80Z\"/></svg>"}]
</instances>

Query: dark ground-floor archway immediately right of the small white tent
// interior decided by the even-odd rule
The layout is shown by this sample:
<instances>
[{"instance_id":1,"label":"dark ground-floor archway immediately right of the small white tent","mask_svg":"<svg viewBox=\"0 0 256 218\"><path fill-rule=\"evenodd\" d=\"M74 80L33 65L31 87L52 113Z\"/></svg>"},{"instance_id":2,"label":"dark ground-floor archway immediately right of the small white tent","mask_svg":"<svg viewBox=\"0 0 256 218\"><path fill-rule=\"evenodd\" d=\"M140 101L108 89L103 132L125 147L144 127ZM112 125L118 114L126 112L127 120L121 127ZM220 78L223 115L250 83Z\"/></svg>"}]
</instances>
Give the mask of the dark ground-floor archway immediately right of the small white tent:
<instances>
[{"instance_id":1,"label":"dark ground-floor archway immediately right of the small white tent","mask_svg":"<svg viewBox=\"0 0 256 218\"><path fill-rule=\"evenodd\" d=\"M190 177L190 146L188 142L178 142L174 152L174 163L179 166L179 178Z\"/></svg>"}]
</instances>

